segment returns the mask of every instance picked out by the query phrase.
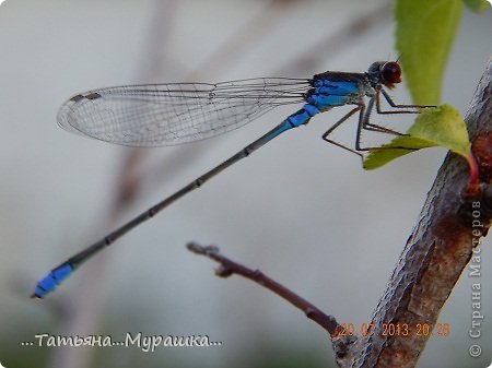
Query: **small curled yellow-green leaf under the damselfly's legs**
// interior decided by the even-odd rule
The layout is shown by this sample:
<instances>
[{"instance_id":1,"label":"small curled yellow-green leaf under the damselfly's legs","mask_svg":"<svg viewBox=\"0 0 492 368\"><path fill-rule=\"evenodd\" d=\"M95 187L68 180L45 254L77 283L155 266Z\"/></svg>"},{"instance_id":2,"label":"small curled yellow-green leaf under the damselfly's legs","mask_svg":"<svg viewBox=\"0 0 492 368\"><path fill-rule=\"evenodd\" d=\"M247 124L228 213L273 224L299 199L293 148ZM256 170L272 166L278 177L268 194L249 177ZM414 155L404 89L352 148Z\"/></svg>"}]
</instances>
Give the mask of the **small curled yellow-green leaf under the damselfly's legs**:
<instances>
[{"instance_id":1,"label":"small curled yellow-green leaf under the damselfly's legs","mask_svg":"<svg viewBox=\"0 0 492 368\"><path fill-rule=\"evenodd\" d=\"M459 112L449 105L425 109L407 134L383 145L384 150L371 151L363 167L374 169L400 156L433 146L445 147L469 159L471 146L467 127Z\"/></svg>"}]
</instances>

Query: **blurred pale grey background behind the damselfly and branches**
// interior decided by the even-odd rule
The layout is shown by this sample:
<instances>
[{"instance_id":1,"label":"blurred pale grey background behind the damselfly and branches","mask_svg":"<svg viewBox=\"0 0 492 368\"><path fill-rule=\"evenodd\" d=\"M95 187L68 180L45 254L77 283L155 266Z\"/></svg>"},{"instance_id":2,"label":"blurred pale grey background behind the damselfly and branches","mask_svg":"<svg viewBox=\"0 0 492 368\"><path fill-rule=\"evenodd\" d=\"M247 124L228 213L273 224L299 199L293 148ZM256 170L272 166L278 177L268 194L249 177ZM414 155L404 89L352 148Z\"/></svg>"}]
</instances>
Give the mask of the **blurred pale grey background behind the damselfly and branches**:
<instances>
[{"instance_id":1,"label":"blurred pale grey background behind the damselfly and branches","mask_svg":"<svg viewBox=\"0 0 492 368\"><path fill-rule=\"evenodd\" d=\"M132 150L70 134L60 105L91 88L363 72L395 59L393 2L7 0L0 7L0 361L5 367L335 367L326 333L276 295L189 253L214 244L339 322L360 325L385 289L446 154L364 171L321 134L348 110L273 140L28 298L48 270L219 164L294 111L229 134ZM492 11L464 11L443 102L464 115L492 55ZM432 52L432 50L430 50ZM405 57L405 56L403 56ZM425 66L422 66L425 68ZM405 79L405 75L403 75ZM409 103L405 83L395 100ZM355 124L339 138L352 143ZM482 244L482 346L492 344L490 239ZM468 355L471 280L460 278L420 367L485 367ZM488 316L491 314L491 316ZM209 335L218 347L36 347L36 334ZM443 352L446 354L443 354Z\"/></svg>"}]
</instances>

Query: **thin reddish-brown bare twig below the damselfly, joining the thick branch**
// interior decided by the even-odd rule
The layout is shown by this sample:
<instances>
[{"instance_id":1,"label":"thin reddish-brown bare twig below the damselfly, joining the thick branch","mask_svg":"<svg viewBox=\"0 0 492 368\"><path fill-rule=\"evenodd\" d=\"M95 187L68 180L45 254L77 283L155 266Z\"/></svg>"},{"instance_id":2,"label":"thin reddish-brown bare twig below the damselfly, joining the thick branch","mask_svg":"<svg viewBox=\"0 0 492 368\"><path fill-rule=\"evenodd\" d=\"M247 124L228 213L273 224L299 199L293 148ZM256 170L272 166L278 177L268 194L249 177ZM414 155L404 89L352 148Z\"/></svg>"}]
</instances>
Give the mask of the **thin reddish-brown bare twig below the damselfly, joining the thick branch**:
<instances>
[{"instance_id":1,"label":"thin reddish-brown bare twig below the damselfly, joining the thick branch","mask_svg":"<svg viewBox=\"0 0 492 368\"><path fill-rule=\"evenodd\" d=\"M229 277L233 274L242 275L265 288L268 288L270 292L276 293L280 297L284 298L294 307L301 309L308 319L313 320L317 324L319 324L323 329L325 329L331 336L333 336L339 328L338 322L331 316L325 314L321 310L316 308L314 305L303 299L297 294L288 289L285 286L279 284L278 282L271 280L267 275L265 275L259 270L251 270L247 266L231 261L226 257L222 256L219 251L218 247L209 246L202 247L196 242L189 242L187 245L188 250L194 253L206 256L215 262L220 263L220 268L215 270L215 274L220 277Z\"/></svg>"}]
</instances>

